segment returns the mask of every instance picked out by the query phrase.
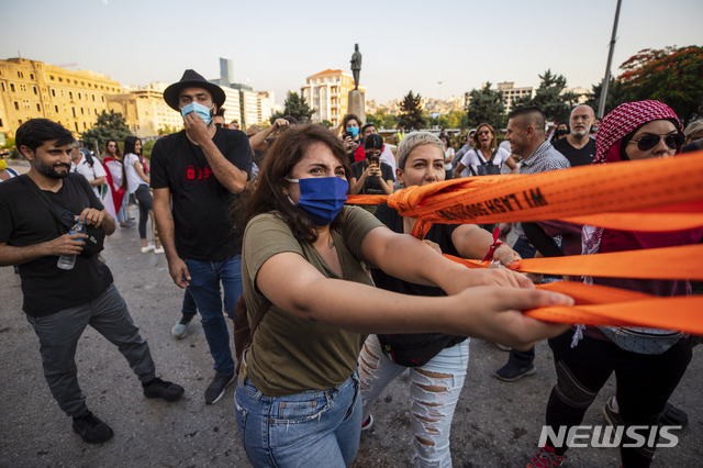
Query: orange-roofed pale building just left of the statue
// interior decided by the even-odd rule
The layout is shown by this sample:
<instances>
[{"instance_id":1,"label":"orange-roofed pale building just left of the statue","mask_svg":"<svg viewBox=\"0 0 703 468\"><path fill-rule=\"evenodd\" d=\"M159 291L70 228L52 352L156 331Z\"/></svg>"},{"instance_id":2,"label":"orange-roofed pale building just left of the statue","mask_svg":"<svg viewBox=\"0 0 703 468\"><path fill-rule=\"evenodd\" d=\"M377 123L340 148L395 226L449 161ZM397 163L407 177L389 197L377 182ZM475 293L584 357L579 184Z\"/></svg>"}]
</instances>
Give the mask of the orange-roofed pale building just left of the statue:
<instances>
[{"instance_id":1,"label":"orange-roofed pale building just left of the statue","mask_svg":"<svg viewBox=\"0 0 703 468\"><path fill-rule=\"evenodd\" d=\"M302 98L315 113L313 122L330 121L338 125L349 109L348 94L354 89L354 78L342 70L326 69L309 76L300 89ZM366 92L366 87L359 86Z\"/></svg>"}]
</instances>

